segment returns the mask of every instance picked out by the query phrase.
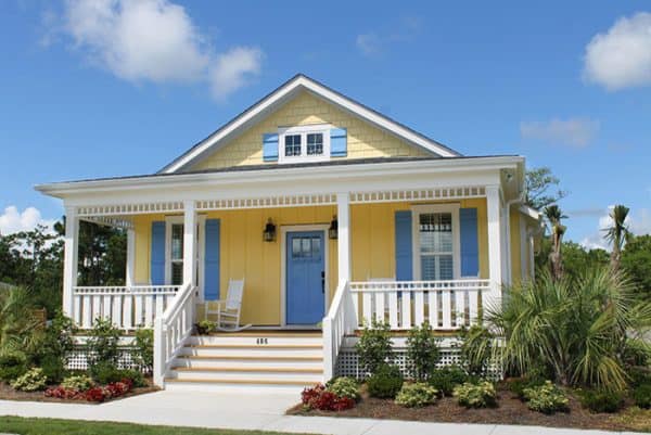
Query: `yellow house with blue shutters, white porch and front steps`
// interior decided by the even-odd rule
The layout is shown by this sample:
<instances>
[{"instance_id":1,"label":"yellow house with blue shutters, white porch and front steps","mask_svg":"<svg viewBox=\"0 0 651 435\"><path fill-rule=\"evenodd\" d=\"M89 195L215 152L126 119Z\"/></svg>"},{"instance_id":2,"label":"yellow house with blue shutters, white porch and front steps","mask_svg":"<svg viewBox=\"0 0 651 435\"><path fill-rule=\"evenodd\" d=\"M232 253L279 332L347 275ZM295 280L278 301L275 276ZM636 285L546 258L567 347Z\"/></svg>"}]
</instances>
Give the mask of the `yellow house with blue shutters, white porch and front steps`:
<instances>
[{"instance_id":1,"label":"yellow house with blue shutters, white porch and front steps","mask_svg":"<svg viewBox=\"0 0 651 435\"><path fill-rule=\"evenodd\" d=\"M365 321L454 332L531 278L524 168L297 75L156 174L37 189L64 202L63 308L81 328L153 325L159 385L301 384L337 372ZM77 285L79 220L126 229L125 286ZM227 297L231 332L193 334Z\"/></svg>"}]
</instances>

